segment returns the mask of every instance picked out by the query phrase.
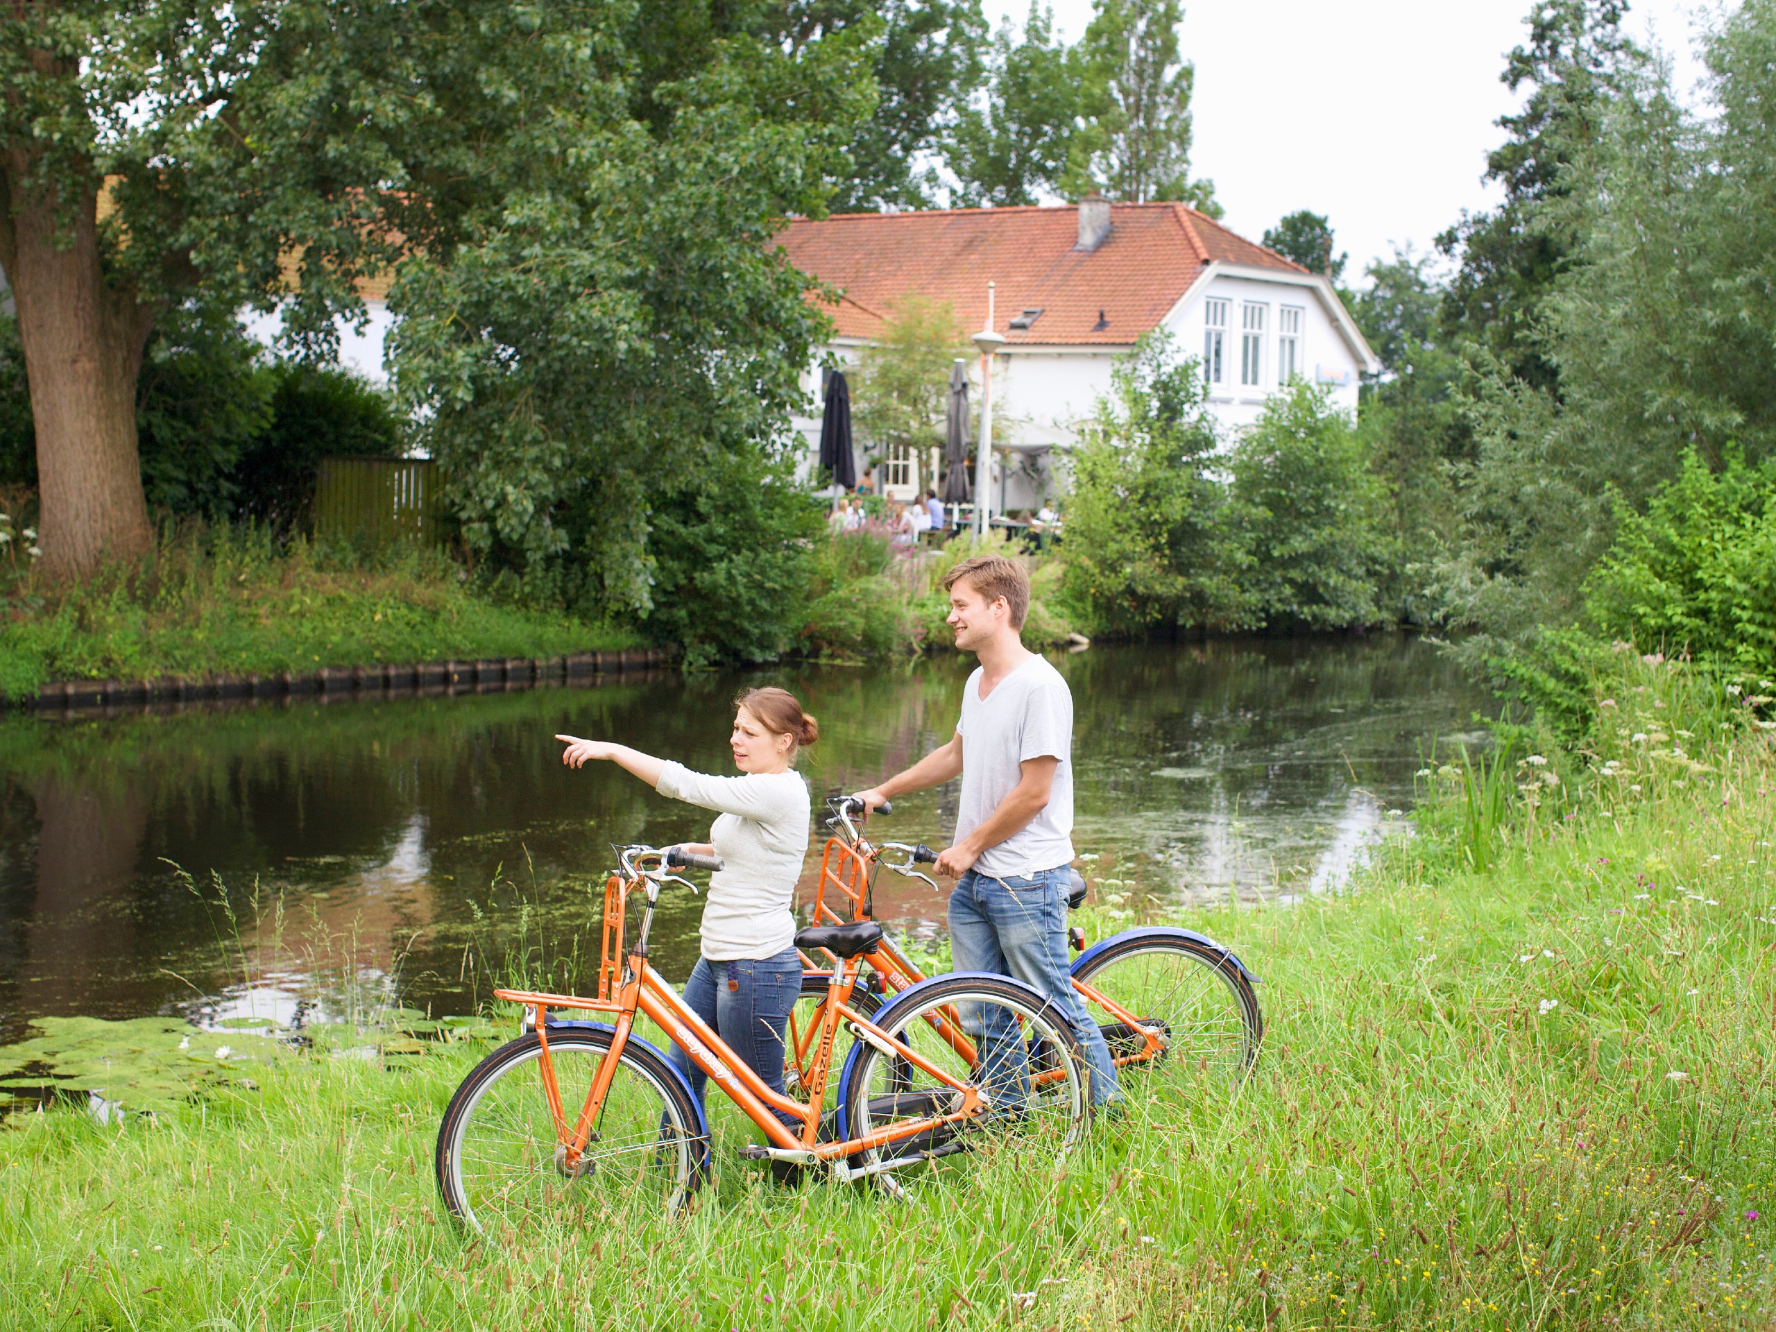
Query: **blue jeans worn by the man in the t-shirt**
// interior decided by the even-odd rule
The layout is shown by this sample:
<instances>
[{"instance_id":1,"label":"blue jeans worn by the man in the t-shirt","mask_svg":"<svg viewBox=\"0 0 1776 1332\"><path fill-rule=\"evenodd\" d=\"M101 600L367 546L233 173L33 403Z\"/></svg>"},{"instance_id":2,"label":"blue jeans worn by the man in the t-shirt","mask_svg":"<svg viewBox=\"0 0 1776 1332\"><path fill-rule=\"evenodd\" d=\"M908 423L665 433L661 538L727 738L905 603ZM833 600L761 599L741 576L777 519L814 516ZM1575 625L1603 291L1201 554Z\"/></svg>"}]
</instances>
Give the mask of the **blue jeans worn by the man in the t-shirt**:
<instances>
[{"instance_id":1,"label":"blue jeans worn by the man in the t-shirt","mask_svg":"<svg viewBox=\"0 0 1776 1332\"><path fill-rule=\"evenodd\" d=\"M1073 1023L1085 1051L1092 1105L1105 1105L1117 1098L1115 1066L1067 971L1071 881L1066 865L1003 879L968 870L950 893L950 955L957 971L1016 977L1053 1000ZM1012 1016L1003 1009L973 1014L973 1019L963 1014L963 1027L980 1041L987 1085L998 1083L1000 1096L1012 1105L1021 1101L1027 1089L1025 1048Z\"/></svg>"}]
</instances>

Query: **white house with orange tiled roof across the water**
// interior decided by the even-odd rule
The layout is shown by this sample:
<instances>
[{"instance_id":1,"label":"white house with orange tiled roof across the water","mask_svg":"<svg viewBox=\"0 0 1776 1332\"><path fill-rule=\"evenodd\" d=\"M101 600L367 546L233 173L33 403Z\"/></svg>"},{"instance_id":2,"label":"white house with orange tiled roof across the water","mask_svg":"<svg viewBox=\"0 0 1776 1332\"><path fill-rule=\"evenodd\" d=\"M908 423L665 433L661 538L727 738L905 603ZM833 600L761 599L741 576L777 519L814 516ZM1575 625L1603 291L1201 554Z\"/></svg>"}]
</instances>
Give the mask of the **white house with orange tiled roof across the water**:
<instances>
[{"instance_id":1,"label":"white house with orange tiled roof across the water","mask_svg":"<svg viewBox=\"0 0 1776 1332\"><path fill-rule=\"evenodd\" d=\"M1074 424L1110 387L1112 361L1153 329L1202 359L1209 407L1229 433L1296 375L1355 410L1360 375L1382 369L1325 277L1185 204L1092 195L1067 208L844 213L794 220L778 242L840 293L822 352L844 364L858 362L909 295L950 302L970 332L984 327L995 284L993 329L1005 337L993 368L995 423L1005 423L995 424L995 451L1005 442L1012 460L1005 474L996 467L995 510L1025 508L1060 480L1053 451L1074 442ZM977 366L971 357L979 378ZM819 410L817 366L803 384ZM797 426L812 465L821 421ZM879 480L906 497L936 485L934 464L888 458Z\"/></svg>"}]
</instances>

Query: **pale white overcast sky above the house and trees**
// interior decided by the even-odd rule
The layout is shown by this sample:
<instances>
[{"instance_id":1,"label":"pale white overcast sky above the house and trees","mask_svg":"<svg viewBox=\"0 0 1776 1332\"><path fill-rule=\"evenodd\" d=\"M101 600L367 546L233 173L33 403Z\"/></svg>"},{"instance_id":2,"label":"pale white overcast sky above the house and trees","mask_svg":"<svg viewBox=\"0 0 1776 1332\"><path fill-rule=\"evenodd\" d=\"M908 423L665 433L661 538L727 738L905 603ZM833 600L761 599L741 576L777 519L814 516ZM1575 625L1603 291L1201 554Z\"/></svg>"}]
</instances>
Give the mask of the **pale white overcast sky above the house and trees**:
<instances>
[{"instance_id":1,"label":"pale white overcast sky above the house and trees","mask_svg":"<svg viewBox=\"0 0 1776 1332\"><path fill-rule=\"evenodd\" d=\"M1227 224L1252 240L1296 208L1327 213L1346 281L1360 284L1392 243L1428 250L1463 208L1494 195L1479 181L1494 124L1517 108L1499 82L1531 0L1185 0L1186 59L1197 66L1192 174L1215 181ZM1078 41L1090 0L1055 0L1055 27ZM1712 5L1710 5L1712 9ZM1028 0L986 0L996 27ZM1636 0L1629 30L1652 36L1694 83L1696 0Z\"/></svg>"}]
</instances>

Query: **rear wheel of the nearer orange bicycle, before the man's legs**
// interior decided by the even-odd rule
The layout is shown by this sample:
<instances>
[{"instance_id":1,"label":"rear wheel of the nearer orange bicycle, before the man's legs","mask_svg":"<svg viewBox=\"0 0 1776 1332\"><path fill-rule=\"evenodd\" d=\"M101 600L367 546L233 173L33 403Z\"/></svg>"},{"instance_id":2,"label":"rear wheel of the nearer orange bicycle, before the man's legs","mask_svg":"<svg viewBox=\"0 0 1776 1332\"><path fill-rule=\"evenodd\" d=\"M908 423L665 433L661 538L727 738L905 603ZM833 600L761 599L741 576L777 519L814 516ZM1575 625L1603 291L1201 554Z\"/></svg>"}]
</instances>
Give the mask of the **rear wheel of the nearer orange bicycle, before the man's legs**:
<instances>
[{"instance_id":1,"label":"rear wheel of the nearer orange bicycle, before the man's legs","mask_svg":"<svg viewBox=\"0 0 1776 1332\"><path fill-rule=\"evenodd\" d=\"M975 1121L868 1147L851 1158L852 1165L975 1149L1051 1165L1085 1131L1090 1094L1078 1037L1028 986L984 975L940 977L902 993L874 1021L925 1064L979 1087L989 1108ZM941 1078L876 1044L854 1048L838 1094L847 1138L950 1114L961 1101Z\"/></svg>"}]
</instances>

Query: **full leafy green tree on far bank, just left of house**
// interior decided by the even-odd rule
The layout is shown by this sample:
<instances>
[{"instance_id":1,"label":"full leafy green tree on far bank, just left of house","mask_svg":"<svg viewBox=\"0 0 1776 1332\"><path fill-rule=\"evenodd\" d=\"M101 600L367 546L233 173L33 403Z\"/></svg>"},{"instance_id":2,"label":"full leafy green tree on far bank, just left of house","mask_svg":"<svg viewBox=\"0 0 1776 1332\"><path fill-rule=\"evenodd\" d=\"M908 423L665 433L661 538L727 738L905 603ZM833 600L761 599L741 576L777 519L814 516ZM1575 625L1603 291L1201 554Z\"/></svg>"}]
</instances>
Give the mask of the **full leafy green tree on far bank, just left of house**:
<instances>
[{"instance_id":1,"label":"full leafy green tree on far bank, just left of house","mask_svg":"<svg viewBox=\"0 0 1776 1332\"><path fill-rule=\"evenodd\" d=\"M403 265L398 400L492 574L645 618L654 506L677 496L682 520L700 490L776 476L828 325L771 240L822 206L872 98L856 34L725 37L652 89L646 124L545 101L529 151L501 156L497 208Z\"/></svg>"}]
</instances>

